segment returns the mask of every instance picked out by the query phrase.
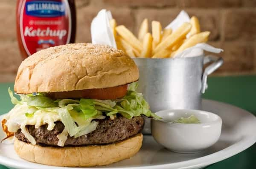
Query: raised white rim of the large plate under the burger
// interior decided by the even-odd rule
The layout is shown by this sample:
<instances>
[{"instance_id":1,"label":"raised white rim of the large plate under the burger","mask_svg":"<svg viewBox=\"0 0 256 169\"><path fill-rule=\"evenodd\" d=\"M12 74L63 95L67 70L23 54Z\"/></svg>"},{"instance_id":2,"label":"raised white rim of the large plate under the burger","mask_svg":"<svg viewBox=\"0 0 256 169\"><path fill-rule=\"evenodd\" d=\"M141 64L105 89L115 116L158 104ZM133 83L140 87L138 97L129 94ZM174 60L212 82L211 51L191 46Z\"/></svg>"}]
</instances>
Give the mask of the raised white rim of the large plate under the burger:
<instances>
[{"instance_id":1,"label":"raised white rim of the large plate under the burger","mask_svg":"<svg viewBox=\"0 0 256 169\"><path fill-rule=\"evenodd\" d=\"M231 104L228 103L223 103L220 101L215 101L215 100L209 100L209 99L203 99L202 101L204 102L209 102L209 103L215 103L218 105L222 105L222 106L227 106L233 109L236 109L239 112L245 113L247 115L252 116L253 118L253 123L256 126L256 117L255 115L251 114L250 112L241 109L237 106L233 106ZM5 114L3 114L5 115ZM3 117L3 115L0 115L0 118ZM150 136L149 136L150 137ZM151 136L152 137L152 136ZM210 155L206 155L200 158L195 158L195 159L191 159L191 160L185 160L185 161L181 161L181 162L176 162L176 163L167 163L167 164L156 164L156 165L150 165L150 166L122 166L122 167L100 167L98 166L97 169L111 169L111 168L115 168L115 169L122 169L122 168L136 168L136 169L169 169L170 167L175 167L175 168L179 168L179 169L192 169L192 168L196 168L196 167L204 167L204 166L208 166L212 163L216 163L219 162L221 160L225 160L227 158L230 158L233 155L239 154L240 152L244 151L245 149L249 148L250 146L252 146L254 143L256 143L256 133L254 135L250 135L247 136L241 140L239 140L238 142L232 144L231 146L226 147L225 149L222 149L218 152L214 152ZM28 164L29 163L29 164ZM17 169L77 169L79 167L58 167L58 166L47 166L44 164L38 164L38 163L32 163L32 162L27 162L27 161L18 161L11 159L11 158L7 158L6 156L0 155L0 164L6 166L6 167L13 167L13 168L17 168ZM80 167L81 169L83 169L83 167ZM79 169L80 169L79 168ZM92 168L92 167L84 167L84 168Z\"/></svg>"}]
</instances>

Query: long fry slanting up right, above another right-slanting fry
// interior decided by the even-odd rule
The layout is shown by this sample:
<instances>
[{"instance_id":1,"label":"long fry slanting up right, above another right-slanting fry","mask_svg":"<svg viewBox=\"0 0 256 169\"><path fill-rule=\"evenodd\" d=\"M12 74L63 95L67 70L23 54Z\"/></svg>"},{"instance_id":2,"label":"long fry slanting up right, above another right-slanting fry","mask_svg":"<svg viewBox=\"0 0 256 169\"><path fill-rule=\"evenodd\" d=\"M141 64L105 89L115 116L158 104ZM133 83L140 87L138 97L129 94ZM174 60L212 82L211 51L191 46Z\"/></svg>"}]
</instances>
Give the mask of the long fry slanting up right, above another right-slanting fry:
<instances>
[{"instance_id":1,"label":"long fry slanting up right, above another right-slanting fry","mask_svg":"<svg viewBox=\"0 0 256 169\"><path fill-rule=\"evenodd\" d=\"M183 23L177 30L175 30L175 32L166 37L166 39L153 50L153 54L173 46L176 42L186 37L186 34L190 31L190 29L190 23Z\"/></svg>"}]
</instances>

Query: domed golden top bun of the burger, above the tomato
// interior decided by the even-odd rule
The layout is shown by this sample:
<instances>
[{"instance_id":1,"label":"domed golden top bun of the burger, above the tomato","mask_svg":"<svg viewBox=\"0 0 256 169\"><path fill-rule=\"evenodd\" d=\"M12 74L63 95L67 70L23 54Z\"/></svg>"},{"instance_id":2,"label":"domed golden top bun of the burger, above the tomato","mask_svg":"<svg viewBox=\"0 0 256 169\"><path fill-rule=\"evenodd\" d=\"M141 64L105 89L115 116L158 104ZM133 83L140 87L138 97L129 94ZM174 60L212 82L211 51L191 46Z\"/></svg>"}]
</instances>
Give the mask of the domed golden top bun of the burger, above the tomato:
<instances>
[{"instance_id":1,"label":"domed golden top bun of the burger, above the tomato","mask_svg":"<svg viewBox=\"0 0 256 169\"><path fill-rule=\"evenodd\" d=\"M21 64L14 90L65 92L101 89L137 81L139 71L124 52L106 45L76 43L47 48Z\"/></svg>"}]
</instances>

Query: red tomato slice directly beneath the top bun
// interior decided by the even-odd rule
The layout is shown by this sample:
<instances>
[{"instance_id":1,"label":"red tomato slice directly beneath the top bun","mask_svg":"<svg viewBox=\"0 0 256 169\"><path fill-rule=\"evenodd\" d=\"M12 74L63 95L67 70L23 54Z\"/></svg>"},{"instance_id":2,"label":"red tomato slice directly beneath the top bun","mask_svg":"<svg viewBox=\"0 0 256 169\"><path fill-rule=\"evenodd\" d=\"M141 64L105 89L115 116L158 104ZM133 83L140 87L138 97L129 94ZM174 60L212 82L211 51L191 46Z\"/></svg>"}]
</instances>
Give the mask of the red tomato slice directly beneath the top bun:
<instances>
[{"instance_id":1,"label":"red tomato slice directly beneath the top bun","mask_svg":"<svg viewBox=\"0 0 256 169\"><path fill-rule=\"evenodd\" d=\"M122 98L127 93L128 85L103 88L103 89L85 89L74 90L69 92L50 92L47 96L55 99L67 99L67 98L90 98L99 100L113 100Z\"/></svg>"}]
</instances>

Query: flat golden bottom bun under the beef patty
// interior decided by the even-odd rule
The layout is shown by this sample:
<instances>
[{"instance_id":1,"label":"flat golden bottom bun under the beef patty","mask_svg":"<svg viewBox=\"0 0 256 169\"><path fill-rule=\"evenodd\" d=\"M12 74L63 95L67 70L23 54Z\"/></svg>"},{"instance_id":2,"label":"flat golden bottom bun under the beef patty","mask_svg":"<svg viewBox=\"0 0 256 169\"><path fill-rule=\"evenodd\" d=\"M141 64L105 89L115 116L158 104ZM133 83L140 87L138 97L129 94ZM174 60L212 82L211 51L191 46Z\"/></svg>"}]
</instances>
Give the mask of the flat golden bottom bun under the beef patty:
<instances>
[{"instance_id":1,"label":"flat golden bottom bun under the beef patty","mask_svg":"<svg viewBox=\"0 0 256 169\"><path fill-rule=\"evenodd\" d=\"M101 146L33 146L15 138L14 149L25 160L50 166L103 166L134 156L142 146L143 135Z\"/></svg>"}]
</instances>

